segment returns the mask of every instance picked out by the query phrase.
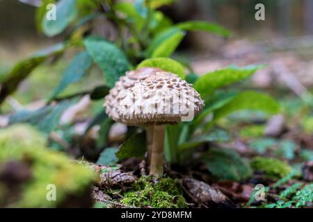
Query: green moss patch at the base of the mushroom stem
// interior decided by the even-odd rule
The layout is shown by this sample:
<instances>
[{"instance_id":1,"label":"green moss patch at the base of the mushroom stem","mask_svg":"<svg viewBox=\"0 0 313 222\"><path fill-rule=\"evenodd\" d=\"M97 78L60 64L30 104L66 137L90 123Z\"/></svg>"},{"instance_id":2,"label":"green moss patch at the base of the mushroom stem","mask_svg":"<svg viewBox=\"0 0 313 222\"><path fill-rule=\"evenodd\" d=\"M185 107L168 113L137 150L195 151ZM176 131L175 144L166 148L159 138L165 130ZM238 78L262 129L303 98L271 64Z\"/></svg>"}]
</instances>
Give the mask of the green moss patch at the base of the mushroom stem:
<instances>
[{"instance_id":1,"label":"green moss patch at the base of the mushroom stem","mask_svg":"<svg viewBox=\"0 0 313 222\"><path fill-rule=\"evenodd\" d=\"M131 190L125 192L121 202L135 207L186 207L186 200L177 180L164 177L156 184L151 180L150 177L140 178Z\"/></svg>"}]
</instances>

